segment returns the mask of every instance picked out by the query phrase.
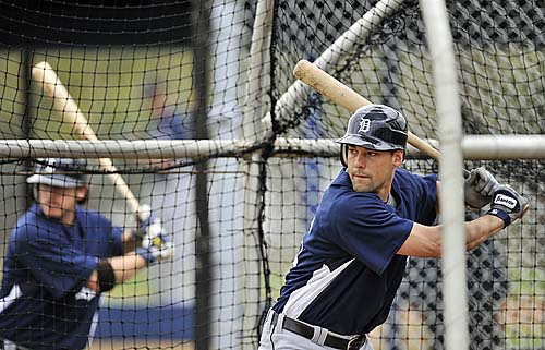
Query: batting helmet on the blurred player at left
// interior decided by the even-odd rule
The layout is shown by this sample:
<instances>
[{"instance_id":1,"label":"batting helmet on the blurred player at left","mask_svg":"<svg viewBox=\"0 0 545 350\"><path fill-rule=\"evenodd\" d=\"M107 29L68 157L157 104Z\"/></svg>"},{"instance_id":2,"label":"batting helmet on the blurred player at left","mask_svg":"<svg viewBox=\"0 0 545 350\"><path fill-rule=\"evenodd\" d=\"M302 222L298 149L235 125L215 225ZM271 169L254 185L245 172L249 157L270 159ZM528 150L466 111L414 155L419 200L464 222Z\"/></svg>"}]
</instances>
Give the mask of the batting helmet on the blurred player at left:
<instances>
[{"instance_id":1,"label":"batting helmet on the blurred player at left","mask_svg":"<svg viewBox=\"0 0 545 350\"><path fill-rule=\"evenodd\" d=\"M87 185L85 159L45 158L36 160L35 174L27 183L47 184L56 188L81 188Z\"/></svg>"}]
</instances>

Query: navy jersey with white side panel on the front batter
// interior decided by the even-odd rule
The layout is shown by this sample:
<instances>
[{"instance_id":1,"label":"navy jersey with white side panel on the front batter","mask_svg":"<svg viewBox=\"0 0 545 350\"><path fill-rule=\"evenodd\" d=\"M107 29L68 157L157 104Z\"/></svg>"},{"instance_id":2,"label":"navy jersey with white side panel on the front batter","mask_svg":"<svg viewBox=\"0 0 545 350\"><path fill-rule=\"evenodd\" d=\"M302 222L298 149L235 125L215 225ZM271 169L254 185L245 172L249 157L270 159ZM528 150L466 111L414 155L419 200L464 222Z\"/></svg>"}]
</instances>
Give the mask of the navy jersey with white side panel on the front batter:
<instances>
[{"instance_id":1,"label":"navy jersey with white side panel on the front batter","mask_svg":"<svg viewBox=\"0 0 545 350\"><path fill-rule=\"evenodd\" d=\"M393 207L375 193L353 191L341 170L324 193L272 309L340 335L383 324L407 264L398 250L414 222L435 221L436 181L397 169Z\"/></svg>"}]
</instances>

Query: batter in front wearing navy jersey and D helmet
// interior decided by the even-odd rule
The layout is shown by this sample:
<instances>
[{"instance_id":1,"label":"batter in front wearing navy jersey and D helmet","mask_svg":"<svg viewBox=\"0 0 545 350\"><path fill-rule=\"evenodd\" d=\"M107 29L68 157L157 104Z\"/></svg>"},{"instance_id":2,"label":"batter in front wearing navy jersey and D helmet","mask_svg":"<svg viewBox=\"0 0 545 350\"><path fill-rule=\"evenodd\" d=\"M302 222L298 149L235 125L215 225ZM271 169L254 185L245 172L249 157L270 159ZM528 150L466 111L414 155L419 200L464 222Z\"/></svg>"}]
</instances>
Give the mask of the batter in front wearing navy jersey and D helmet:
<instances>
[{"instance_id":1,"label":"batter in front wearing navy jersey and D helmet","mask_svg":"<svg viewBox=\"0 0 545 350\"><path fill-rule=\"evenodd\" d=\"M268 312L259 349L365 349L384 323L407 256L440 257L435 174L412 174L404 160L407 121L383 105L360 108L341 144L342 170L316 216ZM465 200L491 209L465 222L467 249L499 232L528 209L528 200L483 168Z\"/></svg>"}]
</instances>

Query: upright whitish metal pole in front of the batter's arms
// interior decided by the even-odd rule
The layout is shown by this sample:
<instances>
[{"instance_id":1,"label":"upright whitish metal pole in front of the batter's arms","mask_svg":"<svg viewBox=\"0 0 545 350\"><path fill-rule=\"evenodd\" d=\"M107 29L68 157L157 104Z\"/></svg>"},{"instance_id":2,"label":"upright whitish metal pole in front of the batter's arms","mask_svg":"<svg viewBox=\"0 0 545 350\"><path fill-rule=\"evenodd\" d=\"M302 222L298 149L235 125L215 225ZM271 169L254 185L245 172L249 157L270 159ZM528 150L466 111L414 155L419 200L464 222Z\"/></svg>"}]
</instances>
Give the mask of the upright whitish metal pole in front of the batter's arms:
<instances>
[{"instance_id":1,"label":"upright whitish metal pole in front of the batter's arms","mask_svg":"<svg viewBox=\"0 0 545 350\"><path fill-rule=\"evenodd\" d=\"M452 35L444 0L420 1L434 72L441 157L445 347L469 349L468 281L463 228L462 117Z\"/></svg>"}]
</instances>

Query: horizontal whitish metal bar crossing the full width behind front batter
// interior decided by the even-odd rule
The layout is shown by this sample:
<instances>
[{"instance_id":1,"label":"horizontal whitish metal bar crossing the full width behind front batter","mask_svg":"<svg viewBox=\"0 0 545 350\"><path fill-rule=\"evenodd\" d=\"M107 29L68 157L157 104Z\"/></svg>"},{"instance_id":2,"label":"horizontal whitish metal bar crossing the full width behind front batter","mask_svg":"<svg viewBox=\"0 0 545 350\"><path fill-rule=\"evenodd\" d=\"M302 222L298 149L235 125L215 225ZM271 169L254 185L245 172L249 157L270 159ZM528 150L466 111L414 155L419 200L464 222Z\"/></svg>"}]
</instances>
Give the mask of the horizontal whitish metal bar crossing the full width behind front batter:
<instances>
[{"instance_id":1,"label":"horizontal whitish metal bar crossing the full width behind front batter","mask_svg":"<svg viewBox=\"0 0 545 350\"><path fill-rule=\"evenodd\" d=\"M426 143L438 147L436 140ZM119 158L171 159L234 157L247 153L255 140L0 140L0 158ZM545 159L545 135L467 135L461 147L464 159ZM339 144L332 138L277 137L272 157L296 154L301 156L335 157ZM411 158L429 158L409 145Z\"/></svg>"}]
</instances>

